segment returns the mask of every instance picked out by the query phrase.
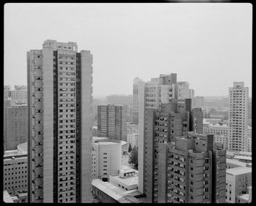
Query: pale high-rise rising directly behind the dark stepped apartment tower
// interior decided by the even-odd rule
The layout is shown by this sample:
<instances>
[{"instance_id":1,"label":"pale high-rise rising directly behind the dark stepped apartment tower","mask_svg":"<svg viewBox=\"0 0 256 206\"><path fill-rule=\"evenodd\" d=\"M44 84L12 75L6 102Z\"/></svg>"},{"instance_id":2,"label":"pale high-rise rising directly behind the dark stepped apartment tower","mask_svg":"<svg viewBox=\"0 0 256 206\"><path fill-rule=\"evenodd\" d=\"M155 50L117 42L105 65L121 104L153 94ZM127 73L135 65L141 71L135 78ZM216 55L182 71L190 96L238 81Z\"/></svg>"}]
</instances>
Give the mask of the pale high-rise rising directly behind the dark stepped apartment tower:
<instances>
[{"instance_id":1,"label":"pale high-rise rising directly behind the dark stepped apartment tower","mask_svg":"<svg viewBox=\"0 0 256 206\"><path fill-rule=\"evenodd\" d=\"M172 104L173 106L171 110L173 110L176 114L180 115L182 118L185 118L180 113L187 112L187 122L192 129L193 126L196 126L195 118L192 116L191 112L191 100L187 100L187 103L184 102L184 99L181 99L183 94L189 96L189 88L187 82L182 82L180 85L184 85L185 91L183 92L183 87L180 86L180 93L178 93L178 83L177 83L177 75L160 75L159 78L151 78L151 81L148 83L140 82L138 86L138 99L139 99L139 123L138 123L138 134L139 134L139 156L138 156L138 169L139 169L139 191L144 193L144 179L146 178L146 170L144 167L146 164L146 159L144 158L144 153L146 152L146 148L149 145L151 147L150 142L146 142L146 121L148 121L148 113L146 109L160 109L162 104ZM180 100L178 100L178 94L180 95ZM182 94L182 95L181 95ZM186 106L185 106L186 104ZM184 108L187 107L186 110ZM176 109L175 109L176 108ZM179 114L178 114L179 113ZM195 112L194 115L198 115ZM180 118L181 118L180 117ZM190 118L190 120L189 120ZM202 115L198 116L198 120L202 118ZM200 125L200 123L198 123ZM149 128L148 128L149 129ZM202 124L203 129L203 124ZM193 129L192 129L193 130Z\"/></svg>"}]
</instances>

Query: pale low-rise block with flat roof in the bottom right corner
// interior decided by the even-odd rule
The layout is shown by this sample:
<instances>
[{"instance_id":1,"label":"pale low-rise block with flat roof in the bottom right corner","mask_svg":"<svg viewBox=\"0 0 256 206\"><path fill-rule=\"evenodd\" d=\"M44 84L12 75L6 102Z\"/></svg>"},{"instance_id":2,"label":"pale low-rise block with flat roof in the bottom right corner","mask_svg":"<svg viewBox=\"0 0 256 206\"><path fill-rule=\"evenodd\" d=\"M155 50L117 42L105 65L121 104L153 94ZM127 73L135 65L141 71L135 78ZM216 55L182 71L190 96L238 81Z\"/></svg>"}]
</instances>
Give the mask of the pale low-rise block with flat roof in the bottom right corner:
<instances>
[{"instance_id":1,"label":"pale low-rise block with flat roof in the bottom right corner","mask_svg":"<svg viewBox=\"0 0 256 206\"><path fill-rule=\"evenodd\" d=\"M237 197L246 194L249 186L252 186L251 167L226 169L226 202L238 203Z\"/></svg>"}]
</instances>

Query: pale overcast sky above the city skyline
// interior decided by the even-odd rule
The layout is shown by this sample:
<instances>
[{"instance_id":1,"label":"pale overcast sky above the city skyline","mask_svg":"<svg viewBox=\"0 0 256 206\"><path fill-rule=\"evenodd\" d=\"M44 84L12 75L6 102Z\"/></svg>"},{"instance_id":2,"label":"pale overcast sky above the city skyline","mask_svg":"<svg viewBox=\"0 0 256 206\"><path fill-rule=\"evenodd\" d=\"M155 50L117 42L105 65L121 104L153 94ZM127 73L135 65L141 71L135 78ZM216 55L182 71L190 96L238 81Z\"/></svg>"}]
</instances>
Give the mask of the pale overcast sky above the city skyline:
<instances>
[{"instance_id":1,"label":"pale overcast sky above the city skyline","mask_svg":"<svg viewBox=\"0 0 256 206\"><path fill-rule=\"evenodd\" d=\"M5 4L4 85L26 85L26 52L46 39L91 50L94 97L170 73L195 96L227 96L233 82L252 96L249 3Z\"/></svg>"}]
</instances>

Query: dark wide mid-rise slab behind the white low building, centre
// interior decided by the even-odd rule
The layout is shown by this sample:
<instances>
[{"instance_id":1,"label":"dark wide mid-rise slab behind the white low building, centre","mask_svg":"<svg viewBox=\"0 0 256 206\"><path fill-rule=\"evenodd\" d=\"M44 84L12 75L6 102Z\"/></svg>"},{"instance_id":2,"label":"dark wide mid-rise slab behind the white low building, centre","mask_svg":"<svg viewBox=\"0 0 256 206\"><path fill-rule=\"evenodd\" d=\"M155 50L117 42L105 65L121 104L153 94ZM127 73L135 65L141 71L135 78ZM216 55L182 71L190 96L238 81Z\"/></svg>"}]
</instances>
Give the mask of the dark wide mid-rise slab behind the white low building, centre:
<instances>
[{"instance_id":1,"label":"dark wide mid-rise slab behind the white low building, centre","mask_svg":"<svg viewBox=\"0 0 256 206\"><path fill-rule=\"evenodd\" d=\"M98 137L127 141L127 107L124 105L98 105Z\"/></svg>"}]
</instances>

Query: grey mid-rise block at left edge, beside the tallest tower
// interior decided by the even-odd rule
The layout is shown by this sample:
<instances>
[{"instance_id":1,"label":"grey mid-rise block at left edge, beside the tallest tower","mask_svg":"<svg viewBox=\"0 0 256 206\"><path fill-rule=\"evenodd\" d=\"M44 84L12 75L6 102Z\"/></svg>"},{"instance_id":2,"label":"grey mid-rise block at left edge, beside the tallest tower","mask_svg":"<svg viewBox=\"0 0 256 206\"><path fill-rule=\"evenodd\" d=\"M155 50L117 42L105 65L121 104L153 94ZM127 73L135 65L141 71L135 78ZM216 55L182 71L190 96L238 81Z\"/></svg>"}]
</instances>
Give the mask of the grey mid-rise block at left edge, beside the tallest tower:
<instances>
[{"instance_id":1,"label":"grey mid-rise block at left edge, beside the tallest tower","mask_svg":"<svg viewBox=\"0 0 256 206\"><path fill-rule=\"evenodd\" d=\"M17 146L28 141L28 106L26 104L7 107L6 150L16 150Z\"/></svg>"}]
</instances>

